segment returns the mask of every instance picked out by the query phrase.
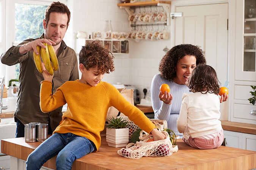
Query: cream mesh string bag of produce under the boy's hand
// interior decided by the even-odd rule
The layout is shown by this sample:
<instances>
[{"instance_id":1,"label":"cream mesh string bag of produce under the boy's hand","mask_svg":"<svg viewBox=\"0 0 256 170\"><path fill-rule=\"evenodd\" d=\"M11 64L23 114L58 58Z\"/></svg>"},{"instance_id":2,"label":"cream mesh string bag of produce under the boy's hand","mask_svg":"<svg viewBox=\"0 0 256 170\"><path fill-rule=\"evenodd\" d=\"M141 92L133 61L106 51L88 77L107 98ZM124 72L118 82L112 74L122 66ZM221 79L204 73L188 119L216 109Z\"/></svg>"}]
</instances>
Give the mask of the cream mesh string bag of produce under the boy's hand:
<instances>
[{"instance_id":1,"label":"cream mesh string bag of produce under the boy's hand","mask_svg":"<svg viewBox=\"0 0 256 170\"><path fill-rule=\"evenodd\" d=\"M173 152L178 151L178 146L171 144L168 133L166 131L161 131L161 133L165 134L165 139L152 141L152 134L141 131L140 142L130 143L126 148L118 150L117 153L126 158L140 159L142 156L170 156Z\"/></svg>"}]
</instances>

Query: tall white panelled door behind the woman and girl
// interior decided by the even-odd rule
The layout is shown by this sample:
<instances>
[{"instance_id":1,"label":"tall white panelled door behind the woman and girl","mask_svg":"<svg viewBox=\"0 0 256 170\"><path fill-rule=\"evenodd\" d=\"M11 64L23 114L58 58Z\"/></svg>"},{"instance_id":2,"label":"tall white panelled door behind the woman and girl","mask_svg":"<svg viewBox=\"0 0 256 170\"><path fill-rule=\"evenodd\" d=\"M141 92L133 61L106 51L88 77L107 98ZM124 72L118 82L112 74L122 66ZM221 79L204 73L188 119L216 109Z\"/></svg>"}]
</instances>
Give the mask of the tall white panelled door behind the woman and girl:
<instances>
[{"instance_id":1,"label":"tall white panelled door behind the woman and girl","mask_svg":"<svg viewBox=\"0 0 256 170\"><path fill-rule=\"evenodd\" d=\"M218 75L221 86L228 81L228 3L178 6L183 12L175 18L175 45L189 43L201 46L207 65ZM223 119L228 119L228 102L221 104Z\"/></svg>"}]
</instances>

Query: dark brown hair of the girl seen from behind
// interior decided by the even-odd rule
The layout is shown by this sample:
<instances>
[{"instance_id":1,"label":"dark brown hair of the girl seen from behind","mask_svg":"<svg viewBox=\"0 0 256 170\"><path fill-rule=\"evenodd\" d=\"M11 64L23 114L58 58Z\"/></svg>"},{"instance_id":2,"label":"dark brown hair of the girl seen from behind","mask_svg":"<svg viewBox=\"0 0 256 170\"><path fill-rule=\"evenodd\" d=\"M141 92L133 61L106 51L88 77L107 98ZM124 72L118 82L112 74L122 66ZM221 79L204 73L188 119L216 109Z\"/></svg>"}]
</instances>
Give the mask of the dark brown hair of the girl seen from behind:
<instances>
[{"instance_id":1,"label":"dark brown hair of the girl seen from behind","mask_svg":"<svg viewBox=\"0 0 256 170\"><path fill-rule=\"evenodd\" d=\"M202 94L214 93L218 94L220 91L220 81L218 80L216 71L209 65L200 64L192 71L188 78L187 87L189 91L201 92ZM205 93L203 93L206 91Z\"/></svg>"}]
</instances>

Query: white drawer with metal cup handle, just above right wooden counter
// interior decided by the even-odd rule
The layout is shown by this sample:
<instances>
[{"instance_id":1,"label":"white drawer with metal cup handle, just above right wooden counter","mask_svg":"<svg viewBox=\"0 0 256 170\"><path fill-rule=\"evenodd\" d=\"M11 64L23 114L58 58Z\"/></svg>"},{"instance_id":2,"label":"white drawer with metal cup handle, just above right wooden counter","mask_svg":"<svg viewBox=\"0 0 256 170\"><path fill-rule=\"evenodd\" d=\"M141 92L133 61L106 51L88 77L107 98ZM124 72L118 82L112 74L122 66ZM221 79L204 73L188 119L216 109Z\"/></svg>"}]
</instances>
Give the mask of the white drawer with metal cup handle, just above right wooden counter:
<instances>
[{"instance_id":1,"label":"white drawer with metal cup handle, just above right wooden counter","mask_svg":"<svg viewBox=\"0 0 256 170\"><path fill-rule=\"evenodd\" d=\"M256 120L256 115L250 114L251 110L256 110L256 105L234 104L234 118Z\"/></svg>"}]
</instances>

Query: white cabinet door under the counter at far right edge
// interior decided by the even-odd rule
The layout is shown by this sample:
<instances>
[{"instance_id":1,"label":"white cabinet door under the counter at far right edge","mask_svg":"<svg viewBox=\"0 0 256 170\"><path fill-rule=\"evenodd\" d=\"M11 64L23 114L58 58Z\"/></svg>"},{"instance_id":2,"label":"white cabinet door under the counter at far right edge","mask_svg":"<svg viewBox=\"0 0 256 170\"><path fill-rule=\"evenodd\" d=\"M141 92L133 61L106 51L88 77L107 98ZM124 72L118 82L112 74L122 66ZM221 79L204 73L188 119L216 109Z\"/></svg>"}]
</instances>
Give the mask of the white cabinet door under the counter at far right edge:
<instances>
[{"instance_id":1,"label":"white cabinet door under the counter at far right edge","mask_svg":"<svg viewBox=\"0 0 256 170\"><path fill-rule=\"evenodd\" d=\"M243 133L242 144L243 149L256 151L256 135Z\"/></svg>"}]
</instances>

